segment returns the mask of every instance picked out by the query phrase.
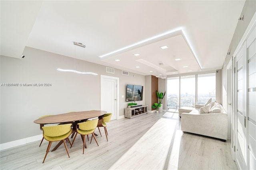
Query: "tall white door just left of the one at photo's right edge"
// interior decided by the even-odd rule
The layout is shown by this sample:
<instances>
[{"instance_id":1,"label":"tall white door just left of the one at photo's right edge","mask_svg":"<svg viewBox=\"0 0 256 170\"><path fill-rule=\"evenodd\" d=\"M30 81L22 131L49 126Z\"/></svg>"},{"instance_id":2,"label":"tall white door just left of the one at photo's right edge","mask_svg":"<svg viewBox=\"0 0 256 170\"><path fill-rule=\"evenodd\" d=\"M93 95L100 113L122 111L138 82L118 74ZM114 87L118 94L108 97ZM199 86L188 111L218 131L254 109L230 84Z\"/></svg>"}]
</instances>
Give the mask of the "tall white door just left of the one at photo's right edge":
<instances>
[{"instance_id":1,"label":"tall white door just left of the one at photo's right edge","mask_svg":"<svg viewBox=\"0 0 256 170\"><path fill-rule=\"evenodd\" d=\"M236 56L236 162L239 169L246 169L246 43Z\"/></svg>"}]
</instances>

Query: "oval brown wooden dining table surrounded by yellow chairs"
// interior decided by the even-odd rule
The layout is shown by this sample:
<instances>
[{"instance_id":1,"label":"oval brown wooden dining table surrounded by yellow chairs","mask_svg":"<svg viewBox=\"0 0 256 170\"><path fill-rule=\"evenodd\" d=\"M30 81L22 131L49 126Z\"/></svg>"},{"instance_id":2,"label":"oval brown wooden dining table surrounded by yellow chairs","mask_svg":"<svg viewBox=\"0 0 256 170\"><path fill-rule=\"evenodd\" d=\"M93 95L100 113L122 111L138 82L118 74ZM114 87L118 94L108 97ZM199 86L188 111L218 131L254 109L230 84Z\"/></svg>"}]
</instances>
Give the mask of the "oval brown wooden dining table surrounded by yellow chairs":
<instances>
[{"instance_id":1,"label":"oval brown wooden dining table surrounded by yellow chairs","mask_svg":"<svg viewBox=\"0 0 256 170\"><path fill-rule=\"evenodd\" d=\"M106 114L103 110L89 110L80 112L68 112L63 114L56 114L44 118L34 120L37 124L55 124L55 123L66 123L66 122L78 122L80 120L87 120L90 118L98 117L99 121L102 121L102 117ZM83 138L82 138L83 139ZM56 150L63 142L60 141L52 151Z\"/></svg>"}]
</instances>

